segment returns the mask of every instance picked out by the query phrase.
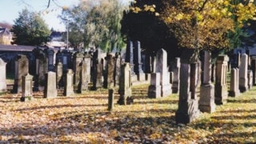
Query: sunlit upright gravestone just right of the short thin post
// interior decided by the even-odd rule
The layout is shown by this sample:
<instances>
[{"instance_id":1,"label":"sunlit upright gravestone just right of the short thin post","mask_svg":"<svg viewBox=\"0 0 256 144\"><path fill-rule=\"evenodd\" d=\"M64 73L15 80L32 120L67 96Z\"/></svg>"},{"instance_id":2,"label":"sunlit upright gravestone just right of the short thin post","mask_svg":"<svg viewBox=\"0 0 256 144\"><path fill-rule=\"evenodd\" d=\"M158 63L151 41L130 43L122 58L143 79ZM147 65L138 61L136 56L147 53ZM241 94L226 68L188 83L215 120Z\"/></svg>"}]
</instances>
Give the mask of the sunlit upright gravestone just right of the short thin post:
<instances>
[{"instance_id":1,"label":"sunlit upright gravestone just right of the short thin post","mask_svg":"<svg viewBox=\"0 0 256 144\"><path fill-rule=\"evenodd\" d=\"M118 99L119 105L127 105L133 102L131 98L132 90L131 90L131 68L130 63L126 62L122 64L121 69L121 77L118 93L120 94L120 98Z\"/></svg>"}]
</instances>

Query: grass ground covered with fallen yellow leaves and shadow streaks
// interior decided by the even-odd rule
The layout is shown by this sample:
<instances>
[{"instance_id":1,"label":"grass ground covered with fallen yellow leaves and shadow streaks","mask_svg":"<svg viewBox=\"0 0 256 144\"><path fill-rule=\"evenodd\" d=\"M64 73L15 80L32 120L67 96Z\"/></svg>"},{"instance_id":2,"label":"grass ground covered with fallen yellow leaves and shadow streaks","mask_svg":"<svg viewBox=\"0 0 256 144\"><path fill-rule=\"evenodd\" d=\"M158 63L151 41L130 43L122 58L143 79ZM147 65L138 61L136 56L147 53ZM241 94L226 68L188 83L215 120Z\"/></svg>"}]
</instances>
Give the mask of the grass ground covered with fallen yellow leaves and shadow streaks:
<instances>
[{"instance_id":1,"label":"grass ground covered with fallen yellow leaves and shadow streaks","mask_svg":"<svg viewBox=\"0 0 256 144\"><path fill-rule=\"evenodd\" d=\"M255 87L186 126L175 123L177 94L150 99L146 93L147 86L134 87L134 103L111 113L107 90L49 99L35 93L29 102L1 95L0 143L256 142Z\"/></svg>"}]
</instances>

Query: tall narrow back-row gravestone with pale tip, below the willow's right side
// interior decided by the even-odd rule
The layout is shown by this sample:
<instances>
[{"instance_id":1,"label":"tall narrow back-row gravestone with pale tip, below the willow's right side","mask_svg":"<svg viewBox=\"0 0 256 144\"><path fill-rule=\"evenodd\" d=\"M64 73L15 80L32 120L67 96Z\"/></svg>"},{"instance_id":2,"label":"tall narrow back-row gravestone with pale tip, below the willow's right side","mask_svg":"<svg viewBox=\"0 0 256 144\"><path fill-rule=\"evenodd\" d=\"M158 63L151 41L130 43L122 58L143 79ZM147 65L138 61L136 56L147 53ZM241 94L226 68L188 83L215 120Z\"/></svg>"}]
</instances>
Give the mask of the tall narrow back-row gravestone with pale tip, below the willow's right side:
<instances>
[{"instance_id":1,"label":"tall narrow back-row gravestone with pale tip, below the willow's right side","mask_svg":"<svg viewBox=\"0 0 256 144\"><path fill-rule=\"evenodd\" d=\"M96 50L93 56L93 89L97 90L103 86L103 59L101 58L101 51Z\"/></svg>"}]
</instances>

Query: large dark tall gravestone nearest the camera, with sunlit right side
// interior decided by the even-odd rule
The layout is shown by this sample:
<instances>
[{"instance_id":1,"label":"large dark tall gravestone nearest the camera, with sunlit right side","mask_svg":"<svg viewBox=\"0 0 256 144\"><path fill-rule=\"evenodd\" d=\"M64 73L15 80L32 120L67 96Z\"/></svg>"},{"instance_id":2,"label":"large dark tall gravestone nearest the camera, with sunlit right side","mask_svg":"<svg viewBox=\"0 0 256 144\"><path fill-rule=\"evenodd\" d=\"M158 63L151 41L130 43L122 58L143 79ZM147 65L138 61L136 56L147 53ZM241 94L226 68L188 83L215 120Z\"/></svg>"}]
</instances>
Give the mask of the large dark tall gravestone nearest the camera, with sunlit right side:
<instances>
[{"instance_id":1,"label":"large dark tall gravestone nearest the camera, with sunlit right side","mask_svg":"<svg viewBox=\"0 0 256 144\"><path fill-rule=\"evenodd\" d=\"M195 93L197 82L197 62L191 61L194 50L186 49L181 55L180 90L178 110L175 117L177 123L189 123L198 118L198 98Z\"/></svg>"}]
</instances>

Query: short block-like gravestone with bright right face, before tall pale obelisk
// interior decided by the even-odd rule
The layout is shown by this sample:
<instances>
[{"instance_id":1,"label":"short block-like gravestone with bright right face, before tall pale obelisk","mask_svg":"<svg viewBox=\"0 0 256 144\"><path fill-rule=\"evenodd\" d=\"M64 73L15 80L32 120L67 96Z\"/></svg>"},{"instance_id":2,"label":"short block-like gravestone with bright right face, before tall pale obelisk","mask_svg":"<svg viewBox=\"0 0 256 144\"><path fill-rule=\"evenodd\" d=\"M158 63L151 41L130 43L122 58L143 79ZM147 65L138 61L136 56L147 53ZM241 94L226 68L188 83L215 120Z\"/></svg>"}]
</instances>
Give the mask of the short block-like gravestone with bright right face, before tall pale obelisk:
<instances>
[{"instance_id":1,"label":"short block-like gravestone with bright right face, before tall pale obelisk","mask_svg":"<svg viewBox=\"0 0 256 144\"><path fill-rule=\"evenodd\" d=\"M152 73L150 78L150 86L148 90L149 98L161 98L161 75L160 73Z\"/></svg>"}]
</instances>

